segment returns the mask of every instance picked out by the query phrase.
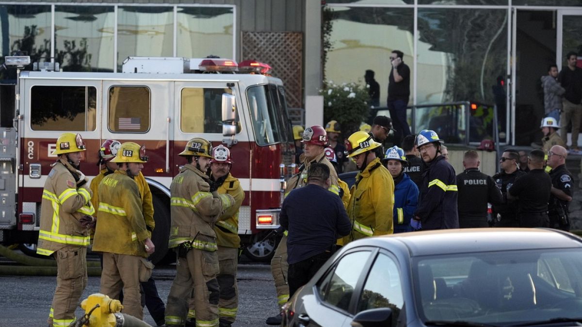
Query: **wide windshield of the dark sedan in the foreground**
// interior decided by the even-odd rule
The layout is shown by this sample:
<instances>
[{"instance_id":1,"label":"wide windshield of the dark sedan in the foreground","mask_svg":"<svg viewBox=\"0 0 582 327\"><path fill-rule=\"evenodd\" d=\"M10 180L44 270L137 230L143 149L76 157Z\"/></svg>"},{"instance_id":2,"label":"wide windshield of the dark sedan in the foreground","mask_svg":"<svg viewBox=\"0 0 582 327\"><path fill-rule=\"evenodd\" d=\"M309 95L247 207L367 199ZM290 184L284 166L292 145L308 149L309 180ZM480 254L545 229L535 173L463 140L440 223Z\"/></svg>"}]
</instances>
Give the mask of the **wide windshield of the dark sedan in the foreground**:
<instances>
[{"instance_id":1,"label":"wide windshield of the dark sedan in the foreground","mask_svg":"<svg viewBox=\"0 0 582 327\"><path fill-rule=\"evenodd\" d=\"M424 321L507 325L582 319L582 252L543 249L418 257Z\"/></svg>"}]
</instances>

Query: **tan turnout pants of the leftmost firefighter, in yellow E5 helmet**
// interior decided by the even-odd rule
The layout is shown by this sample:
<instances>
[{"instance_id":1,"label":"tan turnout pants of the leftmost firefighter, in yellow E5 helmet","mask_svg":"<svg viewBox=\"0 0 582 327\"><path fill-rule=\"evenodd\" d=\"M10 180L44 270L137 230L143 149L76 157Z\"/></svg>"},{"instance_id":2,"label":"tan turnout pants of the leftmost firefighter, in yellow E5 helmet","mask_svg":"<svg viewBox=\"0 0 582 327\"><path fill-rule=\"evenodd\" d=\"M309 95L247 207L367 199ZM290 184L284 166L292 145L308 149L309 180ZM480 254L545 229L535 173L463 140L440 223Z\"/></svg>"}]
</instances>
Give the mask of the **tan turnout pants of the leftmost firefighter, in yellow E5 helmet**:
<instances>
[{"instance_id":1,"label":"tan turnout pants of the leftmost firefighter, in yellow E5 helmet","mask_svg":"<svg viewBox=\"0 0 582 327\"><path fill-rule=\"evenodd\" d=\"M48 324L66 327L75 321L74 311L87 286L87 248L68 245L53 255L56 260L56 289Z\"/></svg>"}]
</instances>

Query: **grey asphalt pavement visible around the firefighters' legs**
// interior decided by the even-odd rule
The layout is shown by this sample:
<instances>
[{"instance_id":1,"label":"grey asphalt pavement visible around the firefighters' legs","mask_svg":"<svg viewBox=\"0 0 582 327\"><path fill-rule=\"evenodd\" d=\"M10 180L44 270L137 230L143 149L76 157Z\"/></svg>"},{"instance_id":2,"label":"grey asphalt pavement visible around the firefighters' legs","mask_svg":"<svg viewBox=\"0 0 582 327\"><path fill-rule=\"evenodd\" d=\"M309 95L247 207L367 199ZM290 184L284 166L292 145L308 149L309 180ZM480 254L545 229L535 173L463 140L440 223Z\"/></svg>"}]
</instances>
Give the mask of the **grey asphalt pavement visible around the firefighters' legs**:
<instances>
[{"instance_id":1,"label":"grey asphalt pavement visible around the firefighters' legs","mask_svg":"<svg viewBox=\"0 0 582 327\"><path fill-rule=\"evenodd\" d=\"M154 269L158 292L164 303L175 275L175 266ZM278 312L275 286L267 264L239 264L239 312L235 327L265 326L265 318ZM0 327L47 326L55 290L54 276L0 276ZM100 278L90 277L83 298L98 293ZM83 311L76 311L80 317ZM144 321L155 326L147 308Z\"/></svg>"}]
</instances>

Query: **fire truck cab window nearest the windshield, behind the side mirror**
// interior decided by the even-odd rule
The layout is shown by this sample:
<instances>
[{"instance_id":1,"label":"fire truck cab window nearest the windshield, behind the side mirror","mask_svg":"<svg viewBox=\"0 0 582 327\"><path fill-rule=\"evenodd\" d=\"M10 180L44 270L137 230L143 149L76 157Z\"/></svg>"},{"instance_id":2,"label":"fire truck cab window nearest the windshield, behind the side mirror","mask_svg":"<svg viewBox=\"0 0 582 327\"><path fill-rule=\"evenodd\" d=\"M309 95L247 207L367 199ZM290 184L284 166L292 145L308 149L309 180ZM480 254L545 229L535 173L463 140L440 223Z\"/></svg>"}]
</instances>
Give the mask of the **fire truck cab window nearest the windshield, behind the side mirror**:
<instances>
[{"instance_id":1,"label":"fire truck cab window nearest the windshield, behind the side mirror","mask_svg":"<svg viewBox=\"0 0 582 327\"><path fill-rule=\"evenodd\" d=\"M223 93L232 94L232 91L230 88L183 88L180 129L184 133L222 134ZM236 122L239 122L238 116Z\"/></svg>"}]
</instances>

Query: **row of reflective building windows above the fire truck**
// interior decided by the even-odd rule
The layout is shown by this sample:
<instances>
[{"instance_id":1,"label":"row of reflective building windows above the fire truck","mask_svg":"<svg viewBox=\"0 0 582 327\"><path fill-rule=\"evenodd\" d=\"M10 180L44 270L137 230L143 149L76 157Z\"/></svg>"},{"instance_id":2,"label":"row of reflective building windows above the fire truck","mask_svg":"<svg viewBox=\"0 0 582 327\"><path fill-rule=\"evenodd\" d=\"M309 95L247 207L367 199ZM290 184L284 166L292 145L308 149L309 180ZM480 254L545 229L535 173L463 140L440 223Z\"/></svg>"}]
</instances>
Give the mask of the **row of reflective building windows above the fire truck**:
<instances>
[{"instance_id":1,"label":"row of reflective building windows above the fire truck","mask_svg":"<svg viewBox=\"0 0 582 327\"><path fill-rule=\"evenodd\" d=\"M127 56L235 58L233 5L0 2L0 61L20 52L64 71L120 72ZM0 80L12 80L12 72Z\"/></svg>"}]
</instances>

